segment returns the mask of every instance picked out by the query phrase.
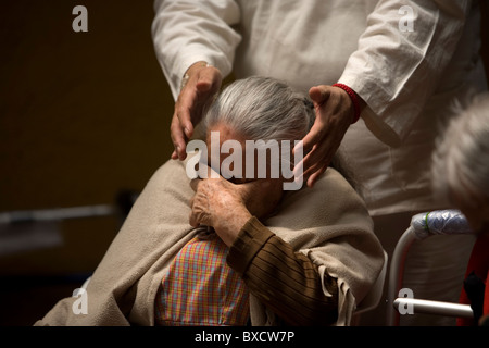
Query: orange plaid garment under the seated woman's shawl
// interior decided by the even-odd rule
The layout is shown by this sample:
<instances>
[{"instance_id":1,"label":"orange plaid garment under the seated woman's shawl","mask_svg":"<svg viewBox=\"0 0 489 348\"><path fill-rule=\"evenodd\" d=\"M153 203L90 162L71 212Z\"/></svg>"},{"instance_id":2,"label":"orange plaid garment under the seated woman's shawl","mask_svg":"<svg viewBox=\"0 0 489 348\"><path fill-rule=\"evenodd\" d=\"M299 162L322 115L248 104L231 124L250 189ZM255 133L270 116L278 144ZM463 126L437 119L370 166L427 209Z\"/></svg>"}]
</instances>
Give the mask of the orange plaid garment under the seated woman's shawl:
<instances>
[{"instance_id":1,"label":"orange plaid garment under the seated woman's shawl","mask_svg":"<svg viewBox=\"0 0 489 348\"><path fill-rule=\"evenodd\" d=\"M249 293L227 265L227 246L212 233L197 236L177 253L155 300L155 324L246 325Z\"/></svg>"}]
</instances>

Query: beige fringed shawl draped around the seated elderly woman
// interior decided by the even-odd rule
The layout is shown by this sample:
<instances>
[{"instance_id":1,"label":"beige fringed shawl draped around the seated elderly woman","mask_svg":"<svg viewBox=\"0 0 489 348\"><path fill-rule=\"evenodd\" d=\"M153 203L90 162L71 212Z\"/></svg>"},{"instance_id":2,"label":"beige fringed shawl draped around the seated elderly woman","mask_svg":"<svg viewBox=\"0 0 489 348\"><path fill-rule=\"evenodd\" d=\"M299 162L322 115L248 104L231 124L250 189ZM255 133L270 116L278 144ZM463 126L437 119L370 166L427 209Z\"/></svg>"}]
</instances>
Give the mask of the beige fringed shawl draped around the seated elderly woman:
<instances>
[{"instance_id":1,"label":"beige fringed shawl draped around the seated elderly woman","mask_svg":"<svg viewBox=\"0 0 489 348\"><path fill-rule=\"evenodd\" d=\"M161 279L195 235L188 224L193 195L186 162L168 161L147 184L86 289L87 314L77 297L60 300L35 325L153 325ZM338 279L337 325L348 325L381 269L384 257L363 201L333 169L314 188L288 191L264 224ZM327 294L325 289L326 296ZM76 303L75 303L76 304ZM78 313L78 314L75 314ZM251 296L253 325L274 325L274 314Z\"/></svg>"}]
</instances>

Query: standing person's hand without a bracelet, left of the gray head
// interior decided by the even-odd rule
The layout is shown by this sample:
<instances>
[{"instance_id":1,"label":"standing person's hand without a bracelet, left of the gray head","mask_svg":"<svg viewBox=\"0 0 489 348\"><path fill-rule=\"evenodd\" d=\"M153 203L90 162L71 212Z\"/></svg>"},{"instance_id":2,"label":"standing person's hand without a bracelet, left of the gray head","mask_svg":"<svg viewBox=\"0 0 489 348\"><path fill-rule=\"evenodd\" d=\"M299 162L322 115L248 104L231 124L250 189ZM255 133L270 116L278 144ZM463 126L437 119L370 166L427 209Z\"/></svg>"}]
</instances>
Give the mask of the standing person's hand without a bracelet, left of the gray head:
<instances>
[{"instance_id":1,"label":"standing person's hand without a bracelet, left of the gray head","mask_svg":"<svg viewBox=\"0 0 489 348\"><path fill-rule=\"evenodd\" d=\"M185 160L185 148L193 134L193 126L202 119L202 111L220 90L223 77L214 66L197 62L187 70L188 79L175 103L170 134L175 150L172 159Z\"/></svg>"}]
</instances>

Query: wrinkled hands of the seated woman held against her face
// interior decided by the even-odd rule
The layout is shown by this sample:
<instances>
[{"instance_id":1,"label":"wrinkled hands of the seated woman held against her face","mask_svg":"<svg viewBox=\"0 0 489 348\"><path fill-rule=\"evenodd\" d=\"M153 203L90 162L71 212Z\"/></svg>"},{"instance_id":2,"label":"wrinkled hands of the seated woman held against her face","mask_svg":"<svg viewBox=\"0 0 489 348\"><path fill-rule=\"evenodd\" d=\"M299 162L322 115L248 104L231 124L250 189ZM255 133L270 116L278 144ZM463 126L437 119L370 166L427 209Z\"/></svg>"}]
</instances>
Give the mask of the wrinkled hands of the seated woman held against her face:
<instances>
[{"instance_id":1,"label":"wrinkled hands of the seated woman held against her face","mask_svg":"<svg viewBox=\"0 0 489 348\"><path fill-rule=\"evenodd\" d=\"M190 225L214 227L227 246L251 216L263 219L271 214L283 192L279 181L233 184L223 177L196 178L190 185L196 191L190 200Z\"/></svg>"}]
</instances>

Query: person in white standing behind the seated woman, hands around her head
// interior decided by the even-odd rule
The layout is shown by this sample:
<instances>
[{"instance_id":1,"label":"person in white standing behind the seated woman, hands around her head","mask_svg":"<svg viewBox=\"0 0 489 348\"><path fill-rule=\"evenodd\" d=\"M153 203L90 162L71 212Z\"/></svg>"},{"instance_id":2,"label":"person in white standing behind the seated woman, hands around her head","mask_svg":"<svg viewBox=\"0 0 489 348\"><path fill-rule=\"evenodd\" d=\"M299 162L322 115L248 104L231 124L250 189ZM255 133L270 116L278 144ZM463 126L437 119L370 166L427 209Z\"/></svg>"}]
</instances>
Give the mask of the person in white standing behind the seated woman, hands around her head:
<instances>
[{"instance_id":1,"label":"person in white standing behind the seated woman, hands around her head","mask_svg":"<svg viewBox=\"0 0 489 348\"><path fill-rule=\"evenodd\" d=\"M155 53L175 99L173 159L186 157L225 76L271 76L309 94L316 109L302 139L306 185L340 151L388 253L413 214L446 207L432 195L430 154L451 103L487 89L478 1L155 0L154 10ZM403 286L416 298L456 301L472 244L415 246Z\"/></svg>"}]
</instances>

